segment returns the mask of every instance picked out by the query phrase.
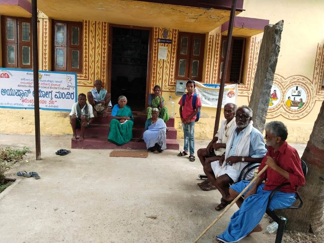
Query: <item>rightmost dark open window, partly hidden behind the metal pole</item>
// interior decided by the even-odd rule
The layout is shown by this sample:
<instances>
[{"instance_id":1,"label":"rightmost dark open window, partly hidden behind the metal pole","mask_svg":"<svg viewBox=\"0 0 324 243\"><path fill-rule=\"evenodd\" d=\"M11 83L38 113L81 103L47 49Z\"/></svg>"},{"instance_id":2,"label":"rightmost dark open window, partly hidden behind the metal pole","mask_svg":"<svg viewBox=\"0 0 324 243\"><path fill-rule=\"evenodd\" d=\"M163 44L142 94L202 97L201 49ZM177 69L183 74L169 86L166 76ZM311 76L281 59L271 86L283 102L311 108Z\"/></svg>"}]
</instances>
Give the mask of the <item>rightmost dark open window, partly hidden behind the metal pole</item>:
<instances>
[{"instance_id":1,"label":"rightmost dark open window, partly hidden behind the metal pole","mask_svg":"<svg viewBox=\"0 0 324 243\"><path fill-rule=\"evenodd\" d=\"M232 37L231 49L227 65L226 83L242 83L244 68L244 53L246 39L242 37ZM219 55L218 82L221 80L223 65L225 62L227 48L227 36L222 36L221 52Z\"/></svg>"}]
</instances>

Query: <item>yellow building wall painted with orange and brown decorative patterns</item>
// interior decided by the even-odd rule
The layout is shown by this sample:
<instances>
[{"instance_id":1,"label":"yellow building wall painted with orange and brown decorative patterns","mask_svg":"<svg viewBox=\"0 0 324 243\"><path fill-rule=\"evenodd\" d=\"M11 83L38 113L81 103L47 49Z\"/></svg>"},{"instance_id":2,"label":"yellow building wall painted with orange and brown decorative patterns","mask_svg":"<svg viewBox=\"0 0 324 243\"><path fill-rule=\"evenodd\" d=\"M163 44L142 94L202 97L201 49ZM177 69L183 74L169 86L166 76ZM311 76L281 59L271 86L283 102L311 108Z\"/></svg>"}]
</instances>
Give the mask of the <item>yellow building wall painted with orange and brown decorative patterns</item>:
<instances>
[{"instance_id":1,"label":"yellow building wall painted with orange and brown decorative patterns","mask_svg":"<svg viewBox=\"0 0 324 243\"><path fill-rule=\"evenodd\" d=\"M268 3L268 1L245 0L244 9L246 11L239 14L242 17L269 19L272 24L284 19L281 50L273 83L282 92L282 99L276 106L269 108L267 121L283 121L289 131L288 142L306 143L308 141L323 100L323 91L320 87L324 66L323 7L324 4L320 1L314 1L312 5L305 7L302 1L295 1L292 4L291 1L277 0ZM48 19L46 15L39 15L39 17L40 70L51 70L51 19ZM132 25L133 23L128 24ZM146 26L150 26L150 23L147 22ZM158 44L156 42L157 38L162 38L164 28L168 30L168 39L172 39L172 44ZM98 78L102 79L104 83L108 81L108 29L108 22L83 20L84 60L83 72L77 75L78 93L87 93L93 87L94 80ZM150 88L153 88L156 84L160 85L162 96L166 100L169 95L172 96L176 104L180 99L180 96L176 96L174 92L179 31L181 30L167 26L153 27L151 50ZM206 34L203 71L206 83L216 83L216 77L219 75L220 40L220 27ZM244 85L238 87L238 105L249 104L261 42L262 34L247 39ZM157 58L159 45L168 47L166 60ZM301 109L291 110L285 105L284 95L291 86L302 87L307 92L307 102ZM183 137L178 104L175 109L177 113L175 127L178 130L178 137ZM211 139L216 108L202 107L201 112L201 119L195 125L195 137L197 139ZM32 110L0 109L0 115L6 117L5 124L0 126L0 132L33 133ZM16 119L17 117L18 119ZM7 124L10 124L10 126ZM41 111L41 133L71 133L68 112Z\"/></svg>"}]
</instances>

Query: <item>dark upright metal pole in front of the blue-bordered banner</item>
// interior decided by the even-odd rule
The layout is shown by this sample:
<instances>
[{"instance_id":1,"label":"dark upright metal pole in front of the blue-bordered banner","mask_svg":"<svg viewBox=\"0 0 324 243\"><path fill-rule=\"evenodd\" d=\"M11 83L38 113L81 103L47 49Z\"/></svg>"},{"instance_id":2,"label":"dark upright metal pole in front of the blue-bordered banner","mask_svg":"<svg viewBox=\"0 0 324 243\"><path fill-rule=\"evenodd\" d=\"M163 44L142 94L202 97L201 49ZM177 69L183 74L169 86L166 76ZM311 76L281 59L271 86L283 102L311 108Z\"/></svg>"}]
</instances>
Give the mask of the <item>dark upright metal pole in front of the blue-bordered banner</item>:
<instances>
[{"instance_id":1,"label":"dark upright metal pole in front of the blue-bordered banner","mask_svg":"<svg viewBox=\"0 0 324 243\"><path fill-rule=\"evenodd\" d=\"M31 0L31 29L33 34L33 73L34 73L34 114L36 160L41 159L40 103L38 84L38 36L37 36L37 0Z\"/></svg>"}]
</instances>

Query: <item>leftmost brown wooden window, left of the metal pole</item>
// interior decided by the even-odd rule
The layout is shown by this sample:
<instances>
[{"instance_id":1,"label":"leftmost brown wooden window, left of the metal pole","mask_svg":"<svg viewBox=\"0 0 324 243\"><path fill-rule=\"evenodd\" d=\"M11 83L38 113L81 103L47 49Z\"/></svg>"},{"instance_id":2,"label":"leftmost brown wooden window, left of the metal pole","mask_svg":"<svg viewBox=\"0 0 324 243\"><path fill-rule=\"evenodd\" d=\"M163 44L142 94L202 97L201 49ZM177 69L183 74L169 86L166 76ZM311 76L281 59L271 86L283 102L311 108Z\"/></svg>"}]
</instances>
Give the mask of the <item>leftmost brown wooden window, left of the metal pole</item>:
<instances>
[{"instance_id":1,"label":"leftmost brown wooden window, left of the metal pole","mask_svg":"<svg viewBox=\"0 0 324 243\"><path fill-rule=\"evenodd\" d=\"M32 68L31 18L1 16L2 66Z\"/></svg>"}]
</instances>

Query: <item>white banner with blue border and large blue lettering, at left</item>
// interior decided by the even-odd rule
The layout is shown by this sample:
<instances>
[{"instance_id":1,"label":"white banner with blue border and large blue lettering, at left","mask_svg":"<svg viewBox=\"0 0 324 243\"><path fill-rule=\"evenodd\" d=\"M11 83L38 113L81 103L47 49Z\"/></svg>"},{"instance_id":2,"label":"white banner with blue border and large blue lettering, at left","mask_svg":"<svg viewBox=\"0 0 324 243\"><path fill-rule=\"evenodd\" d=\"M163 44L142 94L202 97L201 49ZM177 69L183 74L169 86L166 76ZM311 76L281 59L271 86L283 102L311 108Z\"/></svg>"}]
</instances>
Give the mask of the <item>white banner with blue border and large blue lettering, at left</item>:
<instances>
[{"instance_id":1,"label":"white banner with blue border and large blue lettering, at left","mask_svg":"<svg viewBox=\"0 0 324 243\"><path fill-rule=\"evenodd\" d=\"M0 108L34 109L33 71L0 68ZM77 102L76 74L39 71L41 110L70 111Z\"/></svg>"}]
</instances>

